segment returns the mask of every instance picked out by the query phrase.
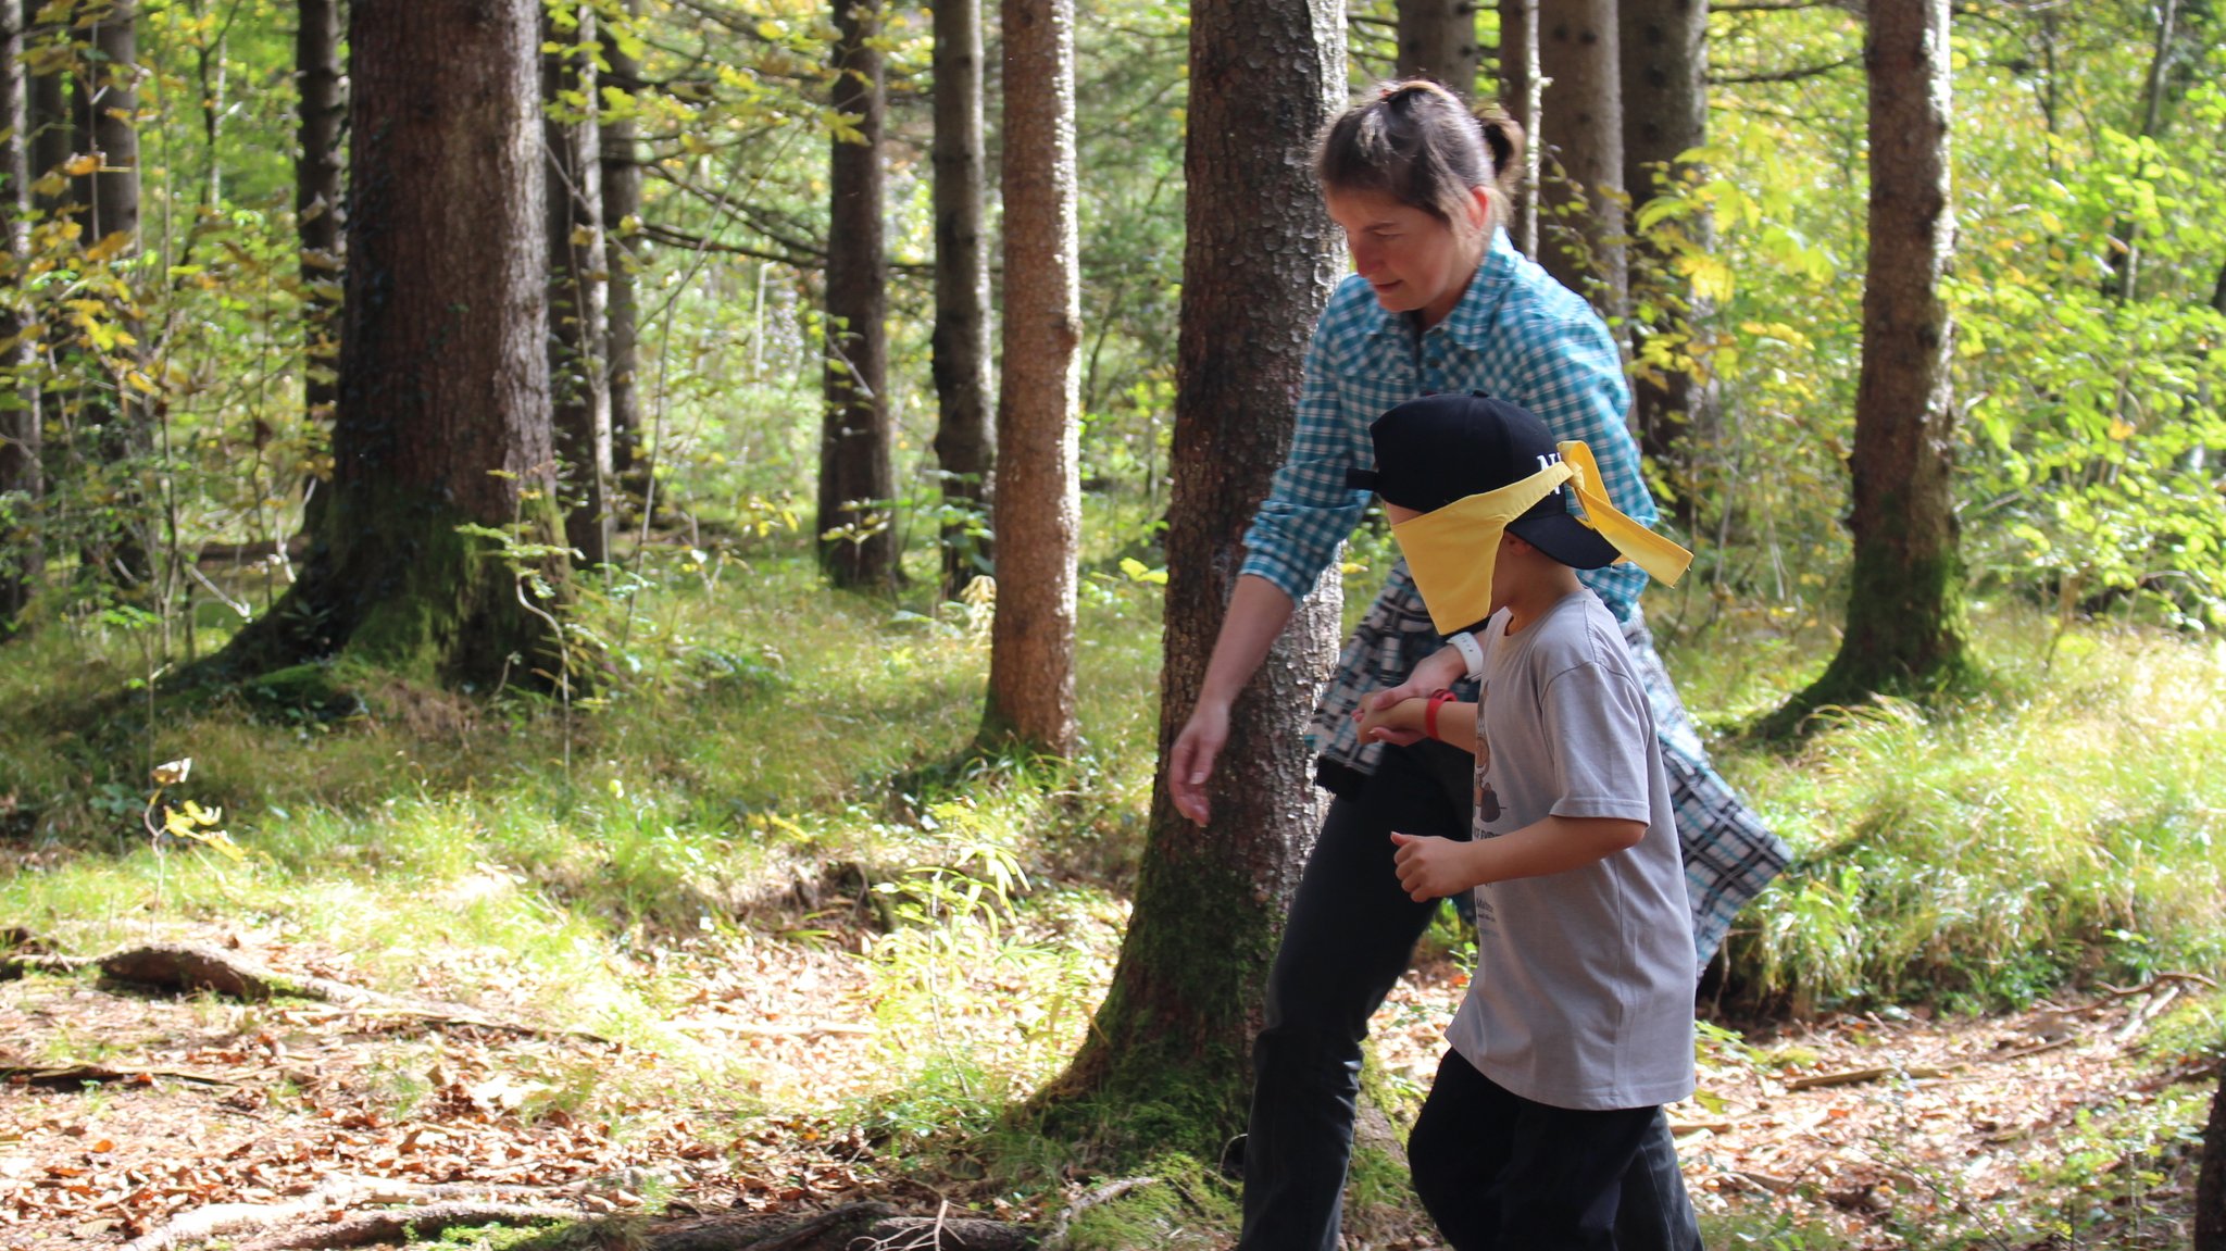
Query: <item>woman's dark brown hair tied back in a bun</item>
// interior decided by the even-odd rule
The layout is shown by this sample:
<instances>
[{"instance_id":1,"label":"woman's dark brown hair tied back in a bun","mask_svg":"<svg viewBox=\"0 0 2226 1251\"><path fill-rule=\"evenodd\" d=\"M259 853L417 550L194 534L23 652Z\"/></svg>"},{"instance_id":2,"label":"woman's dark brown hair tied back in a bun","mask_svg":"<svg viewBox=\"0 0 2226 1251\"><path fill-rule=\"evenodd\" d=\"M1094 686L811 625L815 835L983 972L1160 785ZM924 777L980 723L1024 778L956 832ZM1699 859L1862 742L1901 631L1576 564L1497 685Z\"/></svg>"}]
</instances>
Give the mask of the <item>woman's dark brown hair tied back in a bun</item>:
<instances>
[{"instance_id":1,"label":"woman's dark brown hair tied back in a bun","mask_svg":"<svg viewBox=\"0 0 2226 1251\"><path fill-rule=\"evenodd\" d=\"M1338 114L1313 149L1324 191L1378 191L1458 225L1469 187L1491 187L1494 218L1523 165L1523 127L1498 109L1476 116L1427 78L1376 87ZM1494 220L1498 225L1498 220Z\"/></svg>"}]
</instances>

